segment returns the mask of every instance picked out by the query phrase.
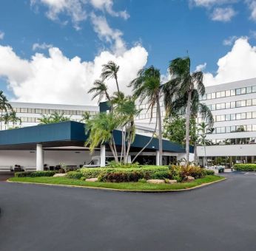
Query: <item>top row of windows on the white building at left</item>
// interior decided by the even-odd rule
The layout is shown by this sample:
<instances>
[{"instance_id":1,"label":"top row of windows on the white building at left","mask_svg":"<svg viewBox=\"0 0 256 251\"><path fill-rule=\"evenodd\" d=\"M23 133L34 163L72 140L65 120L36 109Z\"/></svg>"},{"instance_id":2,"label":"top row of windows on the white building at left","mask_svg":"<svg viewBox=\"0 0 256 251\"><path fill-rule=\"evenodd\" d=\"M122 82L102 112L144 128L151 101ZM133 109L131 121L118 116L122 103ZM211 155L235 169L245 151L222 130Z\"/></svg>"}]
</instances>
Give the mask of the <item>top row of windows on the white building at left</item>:
<instances>
[{"instance_id":1,"label":"top row of windows on the white building at left","mask_svg":"<svg viewBox=\"0 0 256 251\"><path fill-rule=\"evenodd\" d=\"M58 114L65 115L82 115L85 111L78 110L58 110L58 109L33 109L33 108L13 108L17 113L32 113L32 114ZM90 114L96 114L97 111L88 111Z\"/></svg>"}]
</instances>

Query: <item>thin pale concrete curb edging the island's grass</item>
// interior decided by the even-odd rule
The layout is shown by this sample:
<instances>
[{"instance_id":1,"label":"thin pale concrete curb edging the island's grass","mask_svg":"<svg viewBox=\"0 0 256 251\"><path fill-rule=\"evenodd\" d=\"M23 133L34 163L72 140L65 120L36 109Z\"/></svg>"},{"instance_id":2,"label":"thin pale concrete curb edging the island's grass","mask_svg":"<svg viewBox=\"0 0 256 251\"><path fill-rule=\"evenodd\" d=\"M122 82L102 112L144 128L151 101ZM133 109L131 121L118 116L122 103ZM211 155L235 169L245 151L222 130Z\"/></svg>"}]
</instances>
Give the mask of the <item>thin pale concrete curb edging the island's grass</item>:
<instances>
[{"instance_id":1,"label":"thin pale concrete curb edging the island's grass","mask_svg":"<svg viewBox=\"0 0 256 251\"><path fill-rule=\"evenodd\" d=\"M65 187L65 188L89 188L89 189L95 189L95 190L113 190L113 191L119 191L119 192L131 192L131 193L170 193L170 192L185 192L185 191L189 191L189 190L195 190L198 188L203 188L206 187L208 185L212 185L218 182L223 182L224 180L226 180L226 178L224 179L220 179L220 180L216 180L215 182L209 182L209 183L205 183L202 185L197 185L193 188L182 188L182 189L170 189L170 190L129 190L129 189L118 189L118 188L96 188L96 187L87 187L87 186L81 186L81 185L63 185L63 184L48 184L48 183L37 183L37 182L13 182L7 179L7 182L10 183L18 183L18 184L33 184L33 185L47 185L47 186L53 186L53 187Z\"/></svg>"}]
</instances>

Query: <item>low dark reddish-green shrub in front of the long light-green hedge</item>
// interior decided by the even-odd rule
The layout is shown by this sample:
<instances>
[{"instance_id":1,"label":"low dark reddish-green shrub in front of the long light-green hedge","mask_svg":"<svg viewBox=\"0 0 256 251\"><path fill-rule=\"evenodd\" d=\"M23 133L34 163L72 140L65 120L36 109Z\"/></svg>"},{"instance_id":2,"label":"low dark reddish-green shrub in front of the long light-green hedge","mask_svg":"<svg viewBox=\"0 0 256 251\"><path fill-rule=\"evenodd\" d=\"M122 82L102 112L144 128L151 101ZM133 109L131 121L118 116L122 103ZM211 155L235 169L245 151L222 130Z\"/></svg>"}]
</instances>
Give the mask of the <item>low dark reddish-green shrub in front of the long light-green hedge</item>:
<instances>
[{"instance_id":1,"label":"low dark reddish-green shrub in front of the long light-green hedge","mask_svg":"<svg viewBox=\"0 0 256 251\"><path fill-rule=\"evenodd\" d=\"M143 178L143 173L140 171L132 172L111 172L105 173L98 177L101 182L138 182Z\"/></svg>"}]
</instances>

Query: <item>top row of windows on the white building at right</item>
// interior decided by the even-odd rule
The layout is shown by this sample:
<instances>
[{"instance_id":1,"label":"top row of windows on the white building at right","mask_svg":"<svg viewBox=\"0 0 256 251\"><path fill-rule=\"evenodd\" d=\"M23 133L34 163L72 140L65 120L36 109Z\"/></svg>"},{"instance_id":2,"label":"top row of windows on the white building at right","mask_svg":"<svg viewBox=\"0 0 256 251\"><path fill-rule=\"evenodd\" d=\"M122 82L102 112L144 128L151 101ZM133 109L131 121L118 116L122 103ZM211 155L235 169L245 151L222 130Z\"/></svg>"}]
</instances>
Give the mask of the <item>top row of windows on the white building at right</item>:
<instances>
[{"instance_id":1,"label":"top row of windows on the white building at right","mask_svg":"<svg viewBox=\"0 0 256 251\"><path fill-rule=\"evenodd\" d=\"M247 87L243 87L243 88L231 89L231 90L226 90L226 91L222 91L222 92L206 93L202 97L200 97L200 100L212 100L215 98L230 97L230 96L241 95L241 94L249 94L252 92L256 92L256 86L247 86Z\"/></svg>"}]
</instances>

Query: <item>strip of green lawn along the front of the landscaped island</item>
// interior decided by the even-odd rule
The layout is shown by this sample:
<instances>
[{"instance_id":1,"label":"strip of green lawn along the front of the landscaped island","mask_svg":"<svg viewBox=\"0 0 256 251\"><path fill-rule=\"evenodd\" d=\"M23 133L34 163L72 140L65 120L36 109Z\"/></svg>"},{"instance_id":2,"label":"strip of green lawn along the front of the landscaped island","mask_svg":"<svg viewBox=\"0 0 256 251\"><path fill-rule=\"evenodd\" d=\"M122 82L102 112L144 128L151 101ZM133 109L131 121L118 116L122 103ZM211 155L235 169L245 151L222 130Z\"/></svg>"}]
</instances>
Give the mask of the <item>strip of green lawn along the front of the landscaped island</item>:
<instances>
[{"instance_id":1,"label":"strip of green lawn along the front of the landscaped island","mask_svg":"<svg viewBox=\"0 0 256 251\"><path fill-rule=\"evenodd\" d=\"M33 182L33 183L47 183L57 185L78 185L91 188L112 188L112 189L124 189L124 190L180 190L184 188L193 188L198 185L206 184L209 182L215 182L220 179L224 179L220 176L205 176L202 179L195 179L194 182L184 182L177 184L148 184L141 182L122 182L122 183L110 183L110 182L85 182L80 179L68 179L66 177L23 177L23 178L10 178L8 180L12 182Z\"/></svg>"}]
</instances>

